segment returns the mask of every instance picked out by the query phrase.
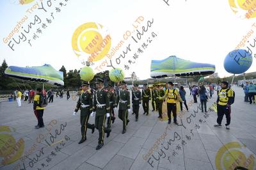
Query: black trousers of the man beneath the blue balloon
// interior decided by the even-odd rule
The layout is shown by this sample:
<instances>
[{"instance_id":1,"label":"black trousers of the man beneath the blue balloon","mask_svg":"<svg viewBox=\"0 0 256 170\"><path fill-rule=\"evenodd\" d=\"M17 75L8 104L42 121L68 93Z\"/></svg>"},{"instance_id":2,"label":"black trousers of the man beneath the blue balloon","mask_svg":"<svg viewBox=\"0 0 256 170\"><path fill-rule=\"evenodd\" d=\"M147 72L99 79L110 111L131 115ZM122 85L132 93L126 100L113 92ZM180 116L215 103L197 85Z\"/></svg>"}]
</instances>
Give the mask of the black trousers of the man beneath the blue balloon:
<instances>
[{"instance_id":1,"label":"black trousers of the man beneath the blue balloon","mask_svg":"<svg viewBox=\"0 0 256 170\"><path fill-rule=\"evenodd\" d=\"M218 118L217 118L217 123L219 125L221 125L221 121L223 119L223 116L225 114L226 116L226 119L227 119L227 123L226 123L226 126L230 124L230 120L231 120L231 117L230 117L230 114L231 114L231 107L227 107L227 105L217 105L217 114L218 114Z\"/></svg>"}]
</instances>

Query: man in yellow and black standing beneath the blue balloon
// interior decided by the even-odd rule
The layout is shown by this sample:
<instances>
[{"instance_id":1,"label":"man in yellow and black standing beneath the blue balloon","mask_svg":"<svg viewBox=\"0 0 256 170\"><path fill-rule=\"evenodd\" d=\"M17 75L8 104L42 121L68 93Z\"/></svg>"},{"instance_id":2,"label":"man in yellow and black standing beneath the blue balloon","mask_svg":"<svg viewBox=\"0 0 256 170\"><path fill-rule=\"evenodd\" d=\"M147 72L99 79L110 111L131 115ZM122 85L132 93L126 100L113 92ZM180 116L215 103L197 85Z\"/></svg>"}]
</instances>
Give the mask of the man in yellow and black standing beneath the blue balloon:
<instances>
[{"instance_id":1,"label":"man in yellow and black standing beneath the blue balloon","mask_svg":"<svg viewBox=\"0 0 256 170\"><path fill-rule=\"evenodd\" d=\"M223 81L221 82L221 89L218 93L218 98L217 98L217 114L218 114L218 118L217 118L217 123L216 125L214 125L214 127L221 127L221 121L223 119L223 116L225 114L226 119L227 119L227 123L226 128L229 129L229 125L230 125L230 114L231 114L231 105L234 103L234 99L235 99L235 92L228 88L228 82L227 81Z\"/></svg>"}]
</instances>

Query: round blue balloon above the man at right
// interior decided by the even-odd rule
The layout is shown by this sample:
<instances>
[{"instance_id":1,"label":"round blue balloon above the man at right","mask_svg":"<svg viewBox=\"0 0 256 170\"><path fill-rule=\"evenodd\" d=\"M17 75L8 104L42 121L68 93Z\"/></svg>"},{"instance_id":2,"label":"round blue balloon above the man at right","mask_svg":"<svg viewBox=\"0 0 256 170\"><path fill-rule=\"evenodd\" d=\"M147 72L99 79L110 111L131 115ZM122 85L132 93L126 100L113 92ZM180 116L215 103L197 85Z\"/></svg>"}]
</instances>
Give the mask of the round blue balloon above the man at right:
<instances>
[{"instance_id":1,"label":"round blue balloon above the man at right","mask_svg":"<svg viewBox=\"0 0 256 170\"><path fill-rule=\"evenodd\" d=\"M229 52L224 61L224 68L228 73L244 73L252 65L252 54L239 49Z\"/></svg>"}]
</instances>

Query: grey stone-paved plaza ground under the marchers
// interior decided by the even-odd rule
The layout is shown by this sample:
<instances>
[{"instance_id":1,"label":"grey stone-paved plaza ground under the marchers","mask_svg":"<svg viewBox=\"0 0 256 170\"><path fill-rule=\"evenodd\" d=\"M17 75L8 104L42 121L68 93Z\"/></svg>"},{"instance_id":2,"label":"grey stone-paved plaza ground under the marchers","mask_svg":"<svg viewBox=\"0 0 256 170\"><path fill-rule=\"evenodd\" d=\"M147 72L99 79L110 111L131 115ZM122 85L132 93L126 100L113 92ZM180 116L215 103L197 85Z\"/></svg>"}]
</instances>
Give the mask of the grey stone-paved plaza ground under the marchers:
<instances>
[{"instance_id":1,"label":"grey stone-paved plaza ground under the marchers","mask_svg":"<svg viewBox=\"0 0 256 170\"><path fill-rule=\"evenodd\" d=\"M10 127L12 132L1 132L0 142L11 142L12 135L16 142L24 140L24 150L22 144L17 146L13 155L20 150L23 157L7 166L1 164L0 169L234 169L239 163L255 169L256 105L243 102L241 88L234 87L234 90L236 101L232 105L230 130L225 126L213 127L216 112L205 114L196 109L199 104L190 104L189 112L185 112L182 120L178 118L180 126L173 123L168 126L167 121L157 118L158 112L150 111L149 116L145 116L141 107L138 122L129 114L125 134L116 116L109 138L105 137L104 147L98 151L95 150L97 130L92 134L88 129L87 140L77 144L81 127L79 114L72 116L76 107L72 98L67 101L65 97L54 97L44 112L45 128L40 129L34 128L36 118L32 104L22 101L19 108L17 102L2 102L0 125ZM189 96L188 89L186 91L189 103L193 97ZM216 102L216 93L207 102L207 108L213 102ZM94 123L94 118L90 117L89 122ZM223 125L225 122L224 116ZM3 134L10 134L10 139L4 140L8 135ZM15 147L15 143L11 143ZM3 160L4 144L0 144Z\"/></svg>"}]
</instances>

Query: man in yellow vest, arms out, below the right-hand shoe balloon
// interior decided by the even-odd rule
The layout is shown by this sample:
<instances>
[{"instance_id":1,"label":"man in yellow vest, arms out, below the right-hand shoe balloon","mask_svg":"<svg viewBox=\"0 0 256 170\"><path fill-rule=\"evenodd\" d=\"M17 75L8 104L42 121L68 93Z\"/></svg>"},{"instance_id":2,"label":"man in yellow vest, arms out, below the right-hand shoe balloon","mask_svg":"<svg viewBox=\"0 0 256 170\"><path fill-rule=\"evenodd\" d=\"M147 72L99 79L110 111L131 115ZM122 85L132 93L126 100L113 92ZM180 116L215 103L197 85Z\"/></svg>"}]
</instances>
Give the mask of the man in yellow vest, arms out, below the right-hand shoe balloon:
<instances>
[{"instance_id":1,"label":"man in yellow vest, arms out, below the right-hand shoe balloon","mask_svg":"<svg viewBox=\"0 0 256 170\"><path fill-rule=\"evenodd\" d=\"M173 82L168 82L168 89L166 89L164 97L157 97L159 100L164 100L167 97L167 114L168 114L168 124L171 123L173 114L173 122L178 125L177 123L177 105L176 101L182 102L180 98L179 91L173 88Z\"/></svg>"}]
</instances>

